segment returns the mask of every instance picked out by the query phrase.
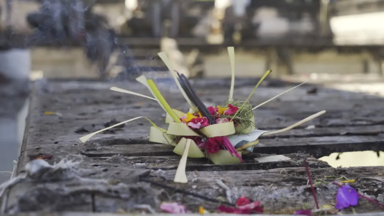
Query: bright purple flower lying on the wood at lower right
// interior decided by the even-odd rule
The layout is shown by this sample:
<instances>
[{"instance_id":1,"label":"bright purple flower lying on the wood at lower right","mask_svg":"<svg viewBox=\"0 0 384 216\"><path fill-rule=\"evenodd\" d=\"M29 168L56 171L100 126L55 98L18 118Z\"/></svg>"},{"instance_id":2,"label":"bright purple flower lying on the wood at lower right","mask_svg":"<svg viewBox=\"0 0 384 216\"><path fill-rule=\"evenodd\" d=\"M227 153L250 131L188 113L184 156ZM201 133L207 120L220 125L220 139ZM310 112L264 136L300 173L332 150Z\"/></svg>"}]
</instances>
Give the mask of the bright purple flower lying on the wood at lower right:
<instances>
[{"instance_id":1,"label":"bright purple flower lying on the wood at lower right","mask_svg":"<svg viewBox=\"0 0 384 216\"><path fill-rule=\"evenodd\" d=\"M340 187L336 194L337 209L348 208L349 206L356 206L358 204L359 195L354 188L351 188L348 183Z\"/></svg>"}]
</instances>

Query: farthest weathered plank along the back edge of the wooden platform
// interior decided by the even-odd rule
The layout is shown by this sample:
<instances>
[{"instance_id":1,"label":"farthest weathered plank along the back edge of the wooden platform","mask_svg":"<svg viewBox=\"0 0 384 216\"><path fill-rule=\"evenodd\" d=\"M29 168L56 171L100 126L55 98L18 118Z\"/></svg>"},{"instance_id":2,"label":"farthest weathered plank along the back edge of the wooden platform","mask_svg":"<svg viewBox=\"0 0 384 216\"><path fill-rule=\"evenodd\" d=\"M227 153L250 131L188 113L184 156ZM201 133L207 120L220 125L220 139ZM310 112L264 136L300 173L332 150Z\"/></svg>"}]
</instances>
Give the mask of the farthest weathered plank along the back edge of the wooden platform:
<instances>
[{"instance_id":1,"label":"farthest weathered plank along the back edge of the wooden platform","mask_svg":"<svg viewBox=\"0 0 384 216\"><path fill-rule=\"evenodd\" d=\"M235 98L242 98L246 97L252 92L253 87L257 83L256 79L249 79L249 78L241 78L235 80ZM170 78L167 80L156 80L156 83L159 85L159 89L164 94L169 94L170 86L175 86L174 81ZM163 83L169 84L168 86L161 85ZM268 81L266 81L268 83ZM49 88L51 93L82 93L82 94L93 94L94 91L98 91L98 95L95 95L96 97L100 95L105 94L114 94L113 91L110 91L109 88L111 86L118 86L120 88L125 88L127 90L131 91L138 91L140 93L149 94L148 90L144 88L140 83L138 82L119 82L119 83L101 83L98 81L68 81L68 82L50 82L46 86ZM192 85L195 86L195 89L199 92L199 95L205 96L207 98L214 97L214 96L228 96L229 94L229 87L230 87L230 79L205 79L205 80L192 80ZM218 87L219 86L219 87ZM289 88L293 87L291 83L287 83L284 81L280 81L278 83L278 87L273 86L260 86L257 91L255 92L255 95L252 96L251 100L268 100L269 98L276 96L280 93L282 93L285 90L288 90ZM316 93L308 94L307 92L309 90L313 90L313 88L316 88ZM173 92L172 92L173 93ZM120 95L122 97L128 96L122 93L115 93L115 95ZM178 95L178 96L177 96ZM177 97L181 97L179 93ZM79 95L82 97L81 95ZM379 95L374 94L367 94L364 91L357 91L357 92L351 92L351 91L342 91L342 90L336 90L332 88L326 88L324 86L314 86L314 85L303 85L299 88L296 88L295 90L292 90L283 96L280 96L280 100L283 101L300 101L300 100L306 100L306 101L316 101L316 100L326 100L331 98L339 98L339 99L372 99L376 98L379 99ZM220 101L221 102L221 101ZM348 103L346 100L345 102Z\"/></svg>"}]
</instances>

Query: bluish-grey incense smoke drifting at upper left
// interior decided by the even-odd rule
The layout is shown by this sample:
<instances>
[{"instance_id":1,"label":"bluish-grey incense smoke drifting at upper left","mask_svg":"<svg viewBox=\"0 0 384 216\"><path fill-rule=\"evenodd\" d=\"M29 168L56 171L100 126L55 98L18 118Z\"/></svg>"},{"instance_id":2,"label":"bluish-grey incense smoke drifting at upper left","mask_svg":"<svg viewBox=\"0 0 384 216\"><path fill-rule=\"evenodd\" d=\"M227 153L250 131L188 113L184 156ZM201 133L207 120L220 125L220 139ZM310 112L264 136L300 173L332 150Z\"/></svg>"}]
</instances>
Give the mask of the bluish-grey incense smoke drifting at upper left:
<instances>
[{"instance_id":1,"label":"bluish-grey incense smoke drifting at upper left","mask_svg":"<svg viewBox=\"0 0 384 216\"><path fill-rule=\"evenodd\" d=\"M100 77L109 78L111 56L118 50L116 33L105 17L91 12L94 2L41 0L40 10L30 13L27 22L34 29L28 45L41 43L84 48L86 57L98 66ZM117 51L118 50L118 51Z\"/></svg>"}]
</instances>

